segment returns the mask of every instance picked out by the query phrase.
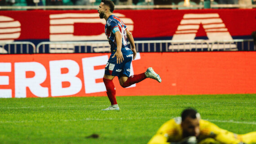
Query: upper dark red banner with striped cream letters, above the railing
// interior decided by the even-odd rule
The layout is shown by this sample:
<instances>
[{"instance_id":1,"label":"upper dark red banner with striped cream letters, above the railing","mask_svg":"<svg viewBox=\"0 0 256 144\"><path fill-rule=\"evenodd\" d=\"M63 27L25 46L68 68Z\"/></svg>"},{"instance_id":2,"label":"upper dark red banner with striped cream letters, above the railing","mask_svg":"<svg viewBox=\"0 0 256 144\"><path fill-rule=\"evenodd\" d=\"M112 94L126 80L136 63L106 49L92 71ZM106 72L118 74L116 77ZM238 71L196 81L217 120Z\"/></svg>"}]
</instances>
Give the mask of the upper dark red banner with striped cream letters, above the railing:
<instances>
[{"instance_id":1,"label":"upper dark red banner with striped cream letters, above the railing","mask_svg":"<svg viewBox=\"0 0 256 144\"><path fill-rule=\"evenodd\" d=\"M137 38L232 39L256 30L256 9L115 10ZM97 10L0 11L0 41L106 40ZM232 37L231 37L232 36Z\"/></svg>"}]
</instances>

